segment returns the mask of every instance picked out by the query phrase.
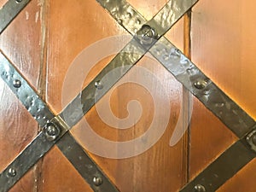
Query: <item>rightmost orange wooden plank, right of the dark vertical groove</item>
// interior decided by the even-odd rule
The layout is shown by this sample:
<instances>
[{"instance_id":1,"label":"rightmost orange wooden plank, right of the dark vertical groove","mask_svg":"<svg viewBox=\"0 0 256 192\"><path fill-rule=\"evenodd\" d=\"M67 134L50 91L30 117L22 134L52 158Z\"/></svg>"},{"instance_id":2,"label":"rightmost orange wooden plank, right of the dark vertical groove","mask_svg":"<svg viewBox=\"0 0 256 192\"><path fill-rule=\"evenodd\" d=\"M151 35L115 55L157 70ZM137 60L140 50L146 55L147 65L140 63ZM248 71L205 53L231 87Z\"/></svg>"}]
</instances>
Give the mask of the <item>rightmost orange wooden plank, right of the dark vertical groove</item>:
<instances>
[{"instance_id":1,"label":"rightmost orange wooden plank, right of the dark vertical groove","mask_svg":"<svg viewBox=\"0 0 256 192\"><path fill-rule=\"evenodd\" d=\"M252 40L253 1L200 1L192 12L192 61L247 113L256 117L255 70ZM194 99L191 119L190 178L216 159L237 138ZM231 162L230 162L231 163ZM249 168L248 168L249 167ZM254 191L250 163L219 191ZM241 176L246 177L241 180ZM238 187L238 183L241 186ZM244 182L244 183L242 183ZM248 183L249 186L246 186Z\"/></svg>"}]
</instances>

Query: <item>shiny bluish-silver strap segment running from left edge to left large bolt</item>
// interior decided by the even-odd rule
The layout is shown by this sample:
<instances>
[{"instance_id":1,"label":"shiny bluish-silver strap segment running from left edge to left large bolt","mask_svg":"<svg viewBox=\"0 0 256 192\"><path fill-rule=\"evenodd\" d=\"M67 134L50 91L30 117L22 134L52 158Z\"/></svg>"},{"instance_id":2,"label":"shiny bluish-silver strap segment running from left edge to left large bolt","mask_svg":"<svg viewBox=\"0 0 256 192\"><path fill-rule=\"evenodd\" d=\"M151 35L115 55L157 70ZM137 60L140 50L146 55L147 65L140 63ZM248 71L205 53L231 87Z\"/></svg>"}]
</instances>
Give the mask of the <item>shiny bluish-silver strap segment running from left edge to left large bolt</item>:
<instances>
[{"instance_id":1,"label":"shiny bluish-silver strap segment running from left edge to left large bolt","mask_svg":"<svg viewBox=\"0 0 256 192\"><path fill-rule=\"evenodd\" d=\"M41 127L54 118L55 115L49 110L47 104L41 100L2 52L0 52L0 76Z\"/></svg>"}]
</instances>

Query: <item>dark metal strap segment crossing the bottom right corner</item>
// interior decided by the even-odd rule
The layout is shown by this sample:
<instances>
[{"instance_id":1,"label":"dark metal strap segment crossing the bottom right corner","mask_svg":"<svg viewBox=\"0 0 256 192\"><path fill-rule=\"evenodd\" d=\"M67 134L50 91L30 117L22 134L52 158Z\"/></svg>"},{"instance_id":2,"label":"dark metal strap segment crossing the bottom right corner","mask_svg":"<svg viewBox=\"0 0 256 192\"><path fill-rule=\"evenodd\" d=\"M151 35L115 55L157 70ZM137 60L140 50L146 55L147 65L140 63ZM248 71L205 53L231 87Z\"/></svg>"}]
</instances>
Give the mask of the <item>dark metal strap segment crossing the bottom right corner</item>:
<instances>
[{"instance_id":1,"label":"dark metal strap segment crossing the bottom right corner","mask_svg":"<svg viewBox=\"0 0 256 192\"><path fill-rule=\"evenodd\" d=\"M207 192L214 192L253 158L255 158L255 153L247 148L242 139L221 154L180 192L196 191L197 185L203 186Z\"/></svg>"}]
</instances>

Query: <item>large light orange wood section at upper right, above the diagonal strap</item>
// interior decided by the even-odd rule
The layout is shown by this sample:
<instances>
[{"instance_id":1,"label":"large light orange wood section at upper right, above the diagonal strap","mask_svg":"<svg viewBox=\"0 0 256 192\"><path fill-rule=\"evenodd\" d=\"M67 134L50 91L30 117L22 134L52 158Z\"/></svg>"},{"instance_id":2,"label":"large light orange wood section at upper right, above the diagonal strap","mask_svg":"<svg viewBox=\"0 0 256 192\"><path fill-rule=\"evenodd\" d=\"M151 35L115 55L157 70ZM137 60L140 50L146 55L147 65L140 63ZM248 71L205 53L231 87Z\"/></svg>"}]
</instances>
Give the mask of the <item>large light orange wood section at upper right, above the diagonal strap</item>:
<instances>
[{"instance_id":1,"label":"large light orange wood section at upper right, above the diagonal strap","mask_svg":"<svg viewBox=\"0 0 256 192\"><path fill-rule=\"evenodd\" d=\"M196 65L256 118L254 1L200 1L192 15L192 56Z\"/></svg>"}]
</instances>

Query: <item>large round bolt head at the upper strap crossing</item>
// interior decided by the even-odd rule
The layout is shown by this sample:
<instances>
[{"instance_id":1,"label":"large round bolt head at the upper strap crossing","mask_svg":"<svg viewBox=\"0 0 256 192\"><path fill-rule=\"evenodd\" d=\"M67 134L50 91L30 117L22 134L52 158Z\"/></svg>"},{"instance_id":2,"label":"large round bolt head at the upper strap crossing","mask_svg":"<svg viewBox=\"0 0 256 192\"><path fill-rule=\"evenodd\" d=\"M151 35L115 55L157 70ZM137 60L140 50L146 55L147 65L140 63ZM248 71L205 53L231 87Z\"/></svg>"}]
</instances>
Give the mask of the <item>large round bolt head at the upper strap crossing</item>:
<instances>
[{"instance_id":1,"label":"large round bolt head at the upper strap crossing","mask_svg":"<svg viewBox=\"0 0 256 192\"><path fill-rule=\"evenodd\" d=\"M151 26L143 25L137 32L137 39L144 45L153 44L157 39L157 32Z\"/></svg>"}]
</instances>

